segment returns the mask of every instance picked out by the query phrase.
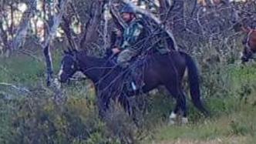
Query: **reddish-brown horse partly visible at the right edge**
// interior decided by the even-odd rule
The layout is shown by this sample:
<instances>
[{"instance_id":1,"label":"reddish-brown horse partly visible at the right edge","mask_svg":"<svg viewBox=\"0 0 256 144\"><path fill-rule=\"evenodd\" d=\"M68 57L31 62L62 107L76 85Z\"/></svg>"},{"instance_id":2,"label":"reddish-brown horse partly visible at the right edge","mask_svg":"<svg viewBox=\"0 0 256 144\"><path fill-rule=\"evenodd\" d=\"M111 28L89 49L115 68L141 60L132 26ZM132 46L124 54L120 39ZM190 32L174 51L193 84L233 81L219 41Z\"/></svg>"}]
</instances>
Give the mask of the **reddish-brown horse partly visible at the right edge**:
<instances>
[{"instance_id":1,"label":"reddish-brown horse partly visible at the right edge","mask_svg":"<svg viewBox=\"0 0 256 144\"><path fill-rule=\"evenodd\" d=\"M256 53L256 30L244 27L241 23L234 25L236 32L244 32L246 35L243 40L244 50L241 54L242 62L248 62L249 59L254 59Z\"/></svg>"}]
</instances>

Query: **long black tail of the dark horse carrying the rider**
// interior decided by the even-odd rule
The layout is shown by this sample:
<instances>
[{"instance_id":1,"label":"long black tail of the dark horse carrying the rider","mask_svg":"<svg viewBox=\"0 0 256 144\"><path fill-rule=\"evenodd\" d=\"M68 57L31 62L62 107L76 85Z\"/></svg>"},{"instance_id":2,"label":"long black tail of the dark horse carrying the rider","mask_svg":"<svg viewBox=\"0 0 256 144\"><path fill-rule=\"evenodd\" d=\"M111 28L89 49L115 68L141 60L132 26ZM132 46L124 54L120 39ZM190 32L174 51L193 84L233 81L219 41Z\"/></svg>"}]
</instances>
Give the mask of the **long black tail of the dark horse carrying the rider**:
<instances>
[{"instance_id":1,"label":"long black tail of the dark horse carrying the rider","mask_svg":"<svg viewBox=\"0 0 256 144\"><path fill-rule=\"evenodd\" d=\"M200 112L204 113L204 116L209 116L209 112L207 111L207 109L204 108L204 105L202 104L200 99L199 74L197 65L192 57L190 55L187 55L187 53L180 52L180 54L184 56L187 63L188 79L190 83L190 95L192 102L197 107L197 109L200 110Z\"/></svg>"}]
</instances>

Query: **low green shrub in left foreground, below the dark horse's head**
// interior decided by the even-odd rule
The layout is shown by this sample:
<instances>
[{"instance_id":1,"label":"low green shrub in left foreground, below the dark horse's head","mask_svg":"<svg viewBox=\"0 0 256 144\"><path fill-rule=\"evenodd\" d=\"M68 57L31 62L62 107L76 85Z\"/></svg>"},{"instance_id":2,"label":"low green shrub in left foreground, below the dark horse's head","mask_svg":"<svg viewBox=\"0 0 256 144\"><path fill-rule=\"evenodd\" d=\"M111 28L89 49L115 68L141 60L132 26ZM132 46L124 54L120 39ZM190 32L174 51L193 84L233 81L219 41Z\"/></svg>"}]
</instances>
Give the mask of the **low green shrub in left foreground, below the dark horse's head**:
<instances>
[{"instance_id":1,"label":"low green shrub in left foreground, below the dark horse's head","mask_svg":"<svg viewBox=\"0 0 256 144\"><path fill-rule=\"evenodd\" d=\"M47 92L33 94L15 106L9 143L106 142L106 126L86 99L72 97L56 105Z\"/></svg>"}]
</instances>

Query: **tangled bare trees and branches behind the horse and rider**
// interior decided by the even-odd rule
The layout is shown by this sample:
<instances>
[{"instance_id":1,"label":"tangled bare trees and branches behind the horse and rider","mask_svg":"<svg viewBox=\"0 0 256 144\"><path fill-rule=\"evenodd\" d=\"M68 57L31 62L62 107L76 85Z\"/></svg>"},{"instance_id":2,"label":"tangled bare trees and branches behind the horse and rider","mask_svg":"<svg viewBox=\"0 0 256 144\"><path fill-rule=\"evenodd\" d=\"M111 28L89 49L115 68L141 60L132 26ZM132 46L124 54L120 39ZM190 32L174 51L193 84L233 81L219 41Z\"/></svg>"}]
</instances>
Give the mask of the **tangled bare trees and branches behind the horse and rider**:
<instances>
[{"instance_id":1,"label":"tangled bare trees and branches behind the horse and rider","mask_svg":"<svg viewBox=\"0 0 256 144\"><path fill-rule=\"evenodd\" d=\"M103 51L109 46L111 29L116 27L109 11L120 16L118 10L123 2L126 1L1 0L1 55L9 56L16 50L27 52L28 48L42 49L49 42ZM199 49L200 44L217 41L217 51L230 51L236 35L232 31L234 12L237 22L255 26L254 1L138 0L133 3L159 18L184 49Z\"/></svg>"}]
</instances>

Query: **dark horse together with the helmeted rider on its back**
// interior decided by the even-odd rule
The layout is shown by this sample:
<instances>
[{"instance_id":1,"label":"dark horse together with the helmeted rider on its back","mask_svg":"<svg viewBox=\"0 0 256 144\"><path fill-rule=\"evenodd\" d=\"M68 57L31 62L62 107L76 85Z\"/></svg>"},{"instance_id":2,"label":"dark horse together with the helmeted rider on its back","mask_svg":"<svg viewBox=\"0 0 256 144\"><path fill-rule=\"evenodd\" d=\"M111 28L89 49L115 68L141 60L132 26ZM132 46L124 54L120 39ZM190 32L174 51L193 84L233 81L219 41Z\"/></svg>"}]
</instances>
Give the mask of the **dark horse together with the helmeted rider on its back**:
<instances>
[{"instance_id":1,"label":"dark horse together with the helmeted rider on its back","mask_svg":"<svg viewBox=\"0 0 256 144\"><path fill-rule=\"evenodd\" d=\"M167 41L169 47L165 45L167 53L163 55L163 51L156 51L150 53L150 55L146 55L143 61L147 62L147 66L143 67L143 70L140 69L140 74L143 75L140 78L142 79L143 85L139 83L139 85L136 85L137 89L133 89L132 92L130 89L126 89L126 82L124 81L127 79L123 68L127 67L127 62L130 62L132 58L143 53L141 51L146 51L147 53L148 49L151 49L147 48L148 45L153 50L158 50L159 47L157 47L158 44L152 46L149 41L146 41L146 45L144 45L144 42L140 42L141 39L144 41L144 37L147 37L146 40L148 38L152 40L152 36L156 35L146 35L146 32L146 34L143 33L145 25L142 22L140 23L139 18L136 18L133 9L126 6L122 10L122 16L128 22L129 26L123 32L123 40L120 47L112 49L113 53L119 54L117 55L117 62L119 62L121 68L116 66L112 59L109 59L110 57L97 58L87 55L83 51L69 50L69 52L64 52L62 57L62 65L58 77L59 82L65 83L75 72L83 72L88 79L92 80L95 86L99 116L101 117L106 116L106 110L109 109L111 100L115 102L117 100L123 105L126 112L129 114L132 113L133 105L129 102L131 96L138 95L140 92L148 93L150 90L156 89L159 85L163 85L170 92L170 95L173 95L173 98L177 99L173 112L171 112L169 117L170 123L175 121L177 115L181 115L182 122L187 123L187 102L182 86L184 72L187 69L192 102L200 112L208 116L209 112L204 108L204 104L200 99L199 73L194 59L185 52L174 50L170 52L170 49L173 49L173 42L172 39L165 37L166 35L164 33L160 33L160 39L163 40L160 42ZM142 44L142 49L140 49L141 47L137 43ZM139 64L136 67L141 66Z\"/></svg>"}]
</instances>

